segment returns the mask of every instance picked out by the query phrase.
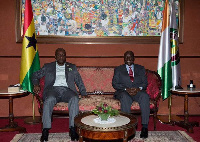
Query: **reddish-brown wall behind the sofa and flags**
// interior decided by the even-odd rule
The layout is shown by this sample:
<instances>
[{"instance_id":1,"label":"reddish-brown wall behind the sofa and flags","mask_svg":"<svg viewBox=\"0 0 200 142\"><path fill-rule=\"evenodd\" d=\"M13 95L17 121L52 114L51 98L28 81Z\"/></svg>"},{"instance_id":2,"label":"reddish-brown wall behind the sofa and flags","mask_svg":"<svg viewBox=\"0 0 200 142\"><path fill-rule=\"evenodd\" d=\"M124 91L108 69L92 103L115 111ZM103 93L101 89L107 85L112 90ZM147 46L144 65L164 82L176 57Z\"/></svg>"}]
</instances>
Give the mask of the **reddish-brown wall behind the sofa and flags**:
<instances>
[{"instance_id":1,"label":"reddish-brown wall behind the sofa and flags","mask_svg":"<svg viewBox=\"0 0 200 142\"><path fill-rule=\"evenodd\" d=\"M15 42L15 1L0 1L0 89L19 82L21 43ZM182 86L194 80L200 86L200 1L185 0L184 43L180 47ZM54 61L54 51L65 48L67 61L77 66L118 66L123 58L73 58L73 56L122 56L133 50L135 62L157 70L159 44L38 44L41 65ZM200 114L200 99L189 99L190 114ZM160 102L159 113L167 114L167 100ZM183 98L173 96L172 112L183 114ZM32 95L14 99L15 116L32 116ZM38 111L36 108L36 115ZM0 99L0 117L8 116L8 99Z\"/></svg>"}]
</instances>

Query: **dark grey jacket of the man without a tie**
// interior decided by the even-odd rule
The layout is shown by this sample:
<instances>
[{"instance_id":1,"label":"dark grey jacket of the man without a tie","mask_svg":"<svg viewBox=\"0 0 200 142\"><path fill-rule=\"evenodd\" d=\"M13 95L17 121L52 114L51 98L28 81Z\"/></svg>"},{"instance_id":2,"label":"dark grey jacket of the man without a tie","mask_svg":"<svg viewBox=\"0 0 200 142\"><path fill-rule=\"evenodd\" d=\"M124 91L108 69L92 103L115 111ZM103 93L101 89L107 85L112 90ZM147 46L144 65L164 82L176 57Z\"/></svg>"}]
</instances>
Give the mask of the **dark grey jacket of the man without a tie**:
<instances>
[{"instance_id":1,"label":"dark grey jacket of the man without a tie","mask_svg":"<svg viewBox=\"0 0 200 142\"><path fill-rule=\"evenodd\" d=\"M51 62L44 64L44 66L39 70L33 73L32 83L33 85L39 85L40 78L45 77L44 92L43 98L46 96L46 92L51 89L55 83L56 79L56 62ZM82 78L77 71L77 68L74 64L66 62L65 64L65 77L68 87L77 92L75 84L78 86L79 92L81 95L86 95L86 89L83 84Z\"/></svg>"}]
</instances>

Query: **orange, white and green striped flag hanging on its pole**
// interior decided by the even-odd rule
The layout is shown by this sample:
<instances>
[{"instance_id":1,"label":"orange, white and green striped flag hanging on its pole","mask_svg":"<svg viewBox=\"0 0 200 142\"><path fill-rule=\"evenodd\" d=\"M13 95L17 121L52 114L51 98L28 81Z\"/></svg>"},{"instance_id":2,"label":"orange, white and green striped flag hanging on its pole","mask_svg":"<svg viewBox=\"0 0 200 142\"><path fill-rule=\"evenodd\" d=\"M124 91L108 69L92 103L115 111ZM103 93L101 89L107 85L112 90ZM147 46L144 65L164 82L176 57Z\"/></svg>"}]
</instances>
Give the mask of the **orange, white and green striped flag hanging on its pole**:
<instances>
[{"instance_id":1,"label":"orange, white and green striped flag hanging on its pole","mask_svg":"<svg viewBox=\"0 0 200 142\"><path fill-rule=\"evenodd\" d=\"M169 27L169 1L165 2L163 12L162 30L160 38L160 49L158 55L158 74L162 79L162 98L170 96L169 90L172 87L171 69L171 48L170 48L170 27Z\"/></svg>"}]
</instances>

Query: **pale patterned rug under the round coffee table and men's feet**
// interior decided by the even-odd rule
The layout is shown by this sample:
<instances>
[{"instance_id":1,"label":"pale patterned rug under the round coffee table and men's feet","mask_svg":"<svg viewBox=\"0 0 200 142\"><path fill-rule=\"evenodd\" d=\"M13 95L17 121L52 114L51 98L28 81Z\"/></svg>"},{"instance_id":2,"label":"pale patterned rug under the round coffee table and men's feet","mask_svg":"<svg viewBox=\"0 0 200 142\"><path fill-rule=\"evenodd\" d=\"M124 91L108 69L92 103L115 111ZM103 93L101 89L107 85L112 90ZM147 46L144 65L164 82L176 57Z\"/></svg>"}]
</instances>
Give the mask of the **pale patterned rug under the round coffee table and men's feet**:
<instances>
[{"instance_id":1,"label":"pale patterned rug under the round coffee table and men's feet","mask_svg":"<svg viewBox=\"0 0 200 142\"><path fill-rule=\"evenodd\" d=\"M140 132L128 142L194 142L184 131L149 131L147 139L139 138ZM41 133L16 134L11 142L39 142ZM48 142L71 142L68 133L50 133Z\"/></svg>"}]
</instances>

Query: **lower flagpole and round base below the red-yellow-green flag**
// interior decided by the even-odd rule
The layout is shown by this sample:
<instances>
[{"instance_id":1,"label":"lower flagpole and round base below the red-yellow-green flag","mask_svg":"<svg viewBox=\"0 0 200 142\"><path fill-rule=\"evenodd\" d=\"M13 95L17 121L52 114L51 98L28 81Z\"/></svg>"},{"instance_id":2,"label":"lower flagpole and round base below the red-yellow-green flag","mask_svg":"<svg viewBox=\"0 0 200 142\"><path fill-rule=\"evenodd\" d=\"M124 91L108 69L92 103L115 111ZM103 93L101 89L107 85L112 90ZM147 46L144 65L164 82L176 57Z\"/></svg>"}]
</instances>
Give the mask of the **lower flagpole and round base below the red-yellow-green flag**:
<instances>
[{"instance_id":1,"label":"lower flagpole and round base below the red-yellow-green flag","mask_svg":"<svg viewBox=\"0 0 200 142\"><path fill-rule=\"evenodd\" d=\"M32 110L33 110L33 116L32 117L28 117L28 118L25 118L24 122L26 124L38 124L38 123L41 123L41 118L40 116L35 116L35 102L34 102L34 95L32 95Z\"/></svg>"}]
</instances>

